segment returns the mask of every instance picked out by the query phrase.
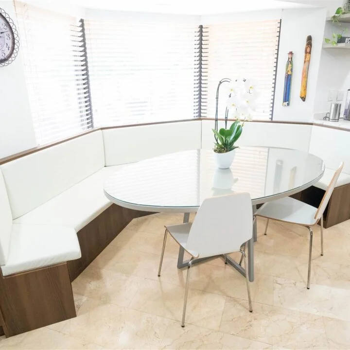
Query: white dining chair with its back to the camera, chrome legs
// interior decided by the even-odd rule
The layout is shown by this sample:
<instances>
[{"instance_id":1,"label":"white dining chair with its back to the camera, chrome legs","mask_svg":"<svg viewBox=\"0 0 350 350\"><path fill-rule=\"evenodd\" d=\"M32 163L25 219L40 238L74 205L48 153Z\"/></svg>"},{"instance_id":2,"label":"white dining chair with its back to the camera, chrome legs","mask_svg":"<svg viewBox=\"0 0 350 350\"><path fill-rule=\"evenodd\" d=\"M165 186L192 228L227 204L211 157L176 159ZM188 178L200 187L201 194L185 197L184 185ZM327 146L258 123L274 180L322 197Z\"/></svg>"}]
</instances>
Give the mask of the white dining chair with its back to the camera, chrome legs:
<instances>
[{"instance_id":1,"label":"white dining chair with its back to the camera, chrome legs","mask_svg":"<svg viewBox=\"0 0 350 350\"><path fill-rule=\"evenodd\" d=\"M160 276L168 233L191 255L187 268L182 327L185 327L190 271L195 259L217 255L226 257L228 253L240 251L245 264L249 311L252 312L248 267L245 252L241 249L241 245L252 238L252 230L252 205L250 195L246 192L205 199L198 209L193 223L165 226L158 276Z\"/></svg>"}]
</instances>

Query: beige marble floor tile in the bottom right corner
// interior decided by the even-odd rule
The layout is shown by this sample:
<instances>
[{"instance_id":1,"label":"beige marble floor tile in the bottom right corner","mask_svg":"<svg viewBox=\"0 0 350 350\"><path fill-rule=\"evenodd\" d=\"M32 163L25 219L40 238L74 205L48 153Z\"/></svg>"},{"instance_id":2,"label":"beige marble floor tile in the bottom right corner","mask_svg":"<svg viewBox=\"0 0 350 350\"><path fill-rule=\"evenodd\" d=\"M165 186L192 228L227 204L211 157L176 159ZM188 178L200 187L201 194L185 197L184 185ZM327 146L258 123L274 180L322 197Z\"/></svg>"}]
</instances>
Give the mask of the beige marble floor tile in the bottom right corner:
<instances>
[{"instance_id":1,"label":"beige marble floor tile in the bottom right corner","mask_svg":"<svg viewBox=\"0 0 350 350\"><path fill-rule=\"evenodd\" d=\"M323 317L329 349L350 349L350 322Z\"/></svg>"}]
</instances>

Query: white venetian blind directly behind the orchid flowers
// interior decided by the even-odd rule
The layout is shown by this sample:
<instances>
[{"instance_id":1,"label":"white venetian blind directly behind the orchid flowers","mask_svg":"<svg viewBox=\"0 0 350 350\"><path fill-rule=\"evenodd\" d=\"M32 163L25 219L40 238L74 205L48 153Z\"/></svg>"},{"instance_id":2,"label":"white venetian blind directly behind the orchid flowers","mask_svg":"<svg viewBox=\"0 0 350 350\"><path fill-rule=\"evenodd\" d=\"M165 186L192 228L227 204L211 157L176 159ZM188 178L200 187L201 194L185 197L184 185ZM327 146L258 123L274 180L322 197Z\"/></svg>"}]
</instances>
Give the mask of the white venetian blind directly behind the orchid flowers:
<instances>
[{"instance_id":1,"label":"white venetian blind directly behind the orchid flowers","mask_svg":"<svg viewBox=\"0 0 350 350\"><path fill-rule=\"evenodd\" d=\"M256 80L261 93L253 119L272 119L279 35L280 19L203 26L202 117L214 118L221 79L245 78ZM225 115L224 91L222 86L219 118Z\"/></svg>"}]
</instances>

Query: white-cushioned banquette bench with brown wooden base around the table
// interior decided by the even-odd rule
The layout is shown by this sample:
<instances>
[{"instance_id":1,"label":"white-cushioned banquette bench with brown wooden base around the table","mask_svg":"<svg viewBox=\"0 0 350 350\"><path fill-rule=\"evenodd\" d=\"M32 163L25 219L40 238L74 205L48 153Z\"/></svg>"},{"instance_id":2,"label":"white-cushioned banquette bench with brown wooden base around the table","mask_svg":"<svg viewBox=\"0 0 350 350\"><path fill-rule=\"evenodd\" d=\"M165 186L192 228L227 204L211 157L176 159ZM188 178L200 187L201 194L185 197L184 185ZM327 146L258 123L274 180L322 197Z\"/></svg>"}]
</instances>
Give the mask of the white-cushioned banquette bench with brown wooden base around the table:
<instances>
[{"instance_id":1,"label":"white-cushioned banquette bench with brown wooden base around the table","mask_svg":"<svg viewBox=\"0 0 350 350\"><path fill-rule=\"evenodd\" d=\"M133 218L148 214L111 204L104 179L125 163L212 148L212 126L192 120L98 129L0 161L0 326L6 336L74 317L71 281ZM322 149L316 152L319 137L312 125L247 123L240 144L310 146L325 158ZM348 155L338 157L350 166ZM344 181L340 193L349 189L350 175ZM349 198L346 203L349 209Z\"/></svg>"}]
</instances>

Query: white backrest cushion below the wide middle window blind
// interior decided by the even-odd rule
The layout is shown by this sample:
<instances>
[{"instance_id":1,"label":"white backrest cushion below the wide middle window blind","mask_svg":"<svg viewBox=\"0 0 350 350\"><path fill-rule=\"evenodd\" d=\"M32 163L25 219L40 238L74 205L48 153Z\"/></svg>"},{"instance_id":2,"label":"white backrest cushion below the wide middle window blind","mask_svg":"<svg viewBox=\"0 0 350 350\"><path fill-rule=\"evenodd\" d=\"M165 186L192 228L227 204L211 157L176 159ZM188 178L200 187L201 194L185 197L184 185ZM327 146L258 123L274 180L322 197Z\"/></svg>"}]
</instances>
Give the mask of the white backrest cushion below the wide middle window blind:
<instances>
[{"instance_id":1,"label":"white backrest cushion below the wide middle window blind","mask_svg":"<svg viewBox=\"0 0 350 350\"><path fill-rule=\"evenodd\" d=\"M193 120L105 129L103 136L106 166L133 163L167 153L201 148L201 122Z\"/></svg>"}]
</instances>

